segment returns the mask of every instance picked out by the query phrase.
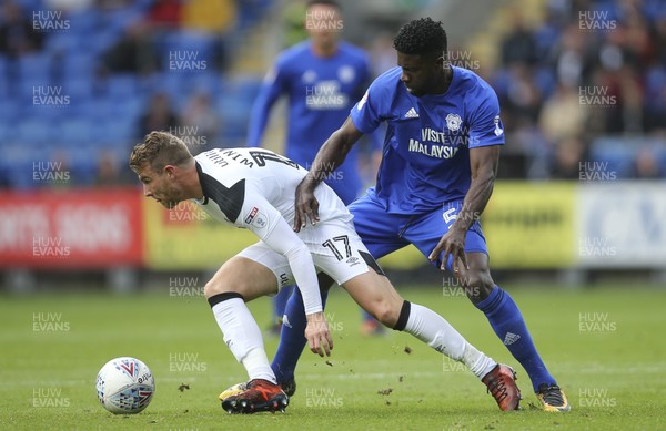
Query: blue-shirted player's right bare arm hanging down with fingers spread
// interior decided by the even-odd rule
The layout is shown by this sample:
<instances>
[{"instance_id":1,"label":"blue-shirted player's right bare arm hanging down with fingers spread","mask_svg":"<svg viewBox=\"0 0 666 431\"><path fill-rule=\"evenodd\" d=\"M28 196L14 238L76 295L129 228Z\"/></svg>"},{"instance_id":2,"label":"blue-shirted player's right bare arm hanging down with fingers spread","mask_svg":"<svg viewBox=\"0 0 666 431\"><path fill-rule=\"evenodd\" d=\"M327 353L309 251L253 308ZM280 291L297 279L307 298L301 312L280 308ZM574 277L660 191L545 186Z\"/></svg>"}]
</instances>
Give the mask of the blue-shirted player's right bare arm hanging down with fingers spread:
<instances>
[{"instance_id":1,"label":"blue-shirted player's right bare arm hanging down with fingers spread","mask_svg":"<svg viewBox=\"0 0 666 431\"><path fill-rule=\"evenodd\" d=\"M446 269L448 256L453 255L454 271L457 271L456 260L461 260L467 268L465 258L465 236L470 226L481 217L486 207L497 175L497 163L500 161L500 145L481 146L470 150L470 165L472 168L472 183L463 201L463 208L457 214L455 222L437 246L433 249L428 259L436 261L440 253L444 252L442 269Z\"/></svg>"}]
</instances>

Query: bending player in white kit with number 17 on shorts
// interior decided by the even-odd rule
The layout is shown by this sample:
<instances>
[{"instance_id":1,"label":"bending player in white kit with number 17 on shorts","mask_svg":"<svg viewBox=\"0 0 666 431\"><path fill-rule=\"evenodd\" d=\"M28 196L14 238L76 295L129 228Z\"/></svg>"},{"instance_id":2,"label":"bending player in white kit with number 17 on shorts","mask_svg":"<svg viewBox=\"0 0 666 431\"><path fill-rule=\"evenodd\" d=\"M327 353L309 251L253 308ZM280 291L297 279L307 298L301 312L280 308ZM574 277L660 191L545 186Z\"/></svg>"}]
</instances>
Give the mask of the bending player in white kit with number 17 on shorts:
<instances>
[{"instance_id":1,"label":"bending player in white kit with number 17 on shorts","mask_svg":"<svg viewBox=\"0 0 666 431\"><path fill-rule=\"evenodd\" d=\"M263 148L215 148L193 157L185 144L165 132L151 132L134 146L130 166L147 197L167 208L191 199L215 219L253 232L260 242L225 261L204 294L249 382L221 394L230 413L284 410L286 394L276 384L261 330L246 301L297 284L305 305L310 349L330 356L333 340L323 314L320 277L330 277L377 320L403 330L463 362L500 403L517 408L519 390L506 366L470 345L443 317L404 300L356 235L352 215L326 185L315 189L320 220L295 233L294 195L307 171ZM330 285L322 284L323 286Z\"/></svg>"}]
</instances>

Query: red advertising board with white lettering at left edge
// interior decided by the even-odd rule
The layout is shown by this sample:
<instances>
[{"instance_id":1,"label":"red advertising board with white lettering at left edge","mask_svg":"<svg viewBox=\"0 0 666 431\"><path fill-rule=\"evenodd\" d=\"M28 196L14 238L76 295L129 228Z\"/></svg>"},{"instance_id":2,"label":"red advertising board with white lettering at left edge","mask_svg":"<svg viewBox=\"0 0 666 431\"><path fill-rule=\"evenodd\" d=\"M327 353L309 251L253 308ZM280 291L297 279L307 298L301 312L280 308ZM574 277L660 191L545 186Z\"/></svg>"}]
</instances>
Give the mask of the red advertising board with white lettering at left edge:
<instances>
[{"instance_id":1,"label":"red advertising board with white lettering at left edge","mask_svg":"<svg viewBox=\"0 0 666 431\"><path fill-rule=\"evenodd\" d=\"M0 268L143 264L134 188L0 192Z\"/></svg>"}]
</instances>

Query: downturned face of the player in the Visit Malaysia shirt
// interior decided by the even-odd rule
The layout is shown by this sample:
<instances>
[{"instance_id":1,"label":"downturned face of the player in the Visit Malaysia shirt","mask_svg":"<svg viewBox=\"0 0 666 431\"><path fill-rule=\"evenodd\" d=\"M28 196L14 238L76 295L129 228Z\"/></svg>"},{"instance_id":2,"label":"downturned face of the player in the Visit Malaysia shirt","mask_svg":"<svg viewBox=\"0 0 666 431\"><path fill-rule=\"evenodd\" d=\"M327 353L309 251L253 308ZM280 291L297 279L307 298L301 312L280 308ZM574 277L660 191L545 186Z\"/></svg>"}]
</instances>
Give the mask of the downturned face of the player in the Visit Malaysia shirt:
<instances>
[{"instance_id":1,"label":"downturned face of the player in the Visit Malaysia shirt","mask_svg":"<svg viewBox=\"0 0 666 431\"><path fill-rule=\"evenodd\" d=\"M437 81L443 76L443 60L441 59L397 53L397 65L402 68L400 80L412 95L420 98L436 91Z\"/></svg>"}]
</instances>

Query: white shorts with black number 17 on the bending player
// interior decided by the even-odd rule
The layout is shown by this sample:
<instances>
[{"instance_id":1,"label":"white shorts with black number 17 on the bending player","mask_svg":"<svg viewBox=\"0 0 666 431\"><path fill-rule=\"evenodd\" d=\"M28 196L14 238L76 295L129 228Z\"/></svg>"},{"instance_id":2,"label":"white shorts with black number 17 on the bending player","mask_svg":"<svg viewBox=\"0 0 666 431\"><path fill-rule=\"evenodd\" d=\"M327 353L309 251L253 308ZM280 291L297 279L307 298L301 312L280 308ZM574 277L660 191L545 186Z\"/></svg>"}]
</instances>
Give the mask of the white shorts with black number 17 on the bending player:
<instances>
[{"instance_id":1,"label":"white shorts with black number 17 on the bending player","mask_svg":"<svg viewBox=\"0 0 666 431\"><path fill-rule=\"evenodd\" d=\"M297 235L310 248L317 273L327 274L339 285L367 273L367 259L375 264L351 220L334 219L310 225ZM263 242L246 247L238 255L271 269L279 289L295 283L286 257Z\"/></svg>"}]
</instances>

